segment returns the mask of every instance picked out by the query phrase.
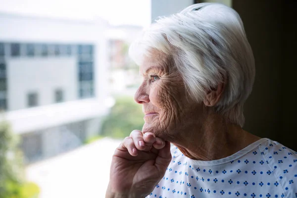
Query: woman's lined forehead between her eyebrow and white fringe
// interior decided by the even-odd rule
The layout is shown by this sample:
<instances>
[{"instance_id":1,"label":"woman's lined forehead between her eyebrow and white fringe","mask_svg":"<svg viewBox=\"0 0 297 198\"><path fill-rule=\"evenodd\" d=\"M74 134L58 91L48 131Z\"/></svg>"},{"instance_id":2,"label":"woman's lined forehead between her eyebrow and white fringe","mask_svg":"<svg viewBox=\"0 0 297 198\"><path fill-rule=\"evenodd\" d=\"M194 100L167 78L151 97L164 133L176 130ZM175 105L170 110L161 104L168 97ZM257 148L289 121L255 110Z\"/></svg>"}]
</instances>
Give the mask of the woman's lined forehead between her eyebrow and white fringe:
<instances>
[{"instance_id":1,"label":"woman's lined forehead between her eyebrow and white fringe","mask_svg":"<svg viewBox=\"0 0 297 198\"><path fill-rule=\"evenodd\" d=\"M148 55L145 55L140 65L140 72L145 74L148 70L162 70L167 73L169 67L170 58L160 51L152 50Z\"/></svg>"}]
</instances>

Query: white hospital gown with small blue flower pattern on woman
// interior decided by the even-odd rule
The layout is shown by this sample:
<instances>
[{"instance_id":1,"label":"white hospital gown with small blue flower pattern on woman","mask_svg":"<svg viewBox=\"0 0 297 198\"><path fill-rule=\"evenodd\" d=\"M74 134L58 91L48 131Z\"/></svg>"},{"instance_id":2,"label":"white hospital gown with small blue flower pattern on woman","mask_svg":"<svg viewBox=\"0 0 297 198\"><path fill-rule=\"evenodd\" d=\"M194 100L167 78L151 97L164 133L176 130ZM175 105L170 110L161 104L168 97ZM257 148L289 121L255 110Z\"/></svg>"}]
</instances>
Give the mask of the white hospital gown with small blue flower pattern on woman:
<instances>
[{"instance_id":1,"label":"white hospital gown with small blue flower pattern on woman","mask_svg":"<svg viewBox=\"0 0 297 198\"><path fill-rule=\"evenodd\" d=\"M261 139L223 159L172 161L148 198L297 198L297 152Z\"/></svg>"}]
</instances>

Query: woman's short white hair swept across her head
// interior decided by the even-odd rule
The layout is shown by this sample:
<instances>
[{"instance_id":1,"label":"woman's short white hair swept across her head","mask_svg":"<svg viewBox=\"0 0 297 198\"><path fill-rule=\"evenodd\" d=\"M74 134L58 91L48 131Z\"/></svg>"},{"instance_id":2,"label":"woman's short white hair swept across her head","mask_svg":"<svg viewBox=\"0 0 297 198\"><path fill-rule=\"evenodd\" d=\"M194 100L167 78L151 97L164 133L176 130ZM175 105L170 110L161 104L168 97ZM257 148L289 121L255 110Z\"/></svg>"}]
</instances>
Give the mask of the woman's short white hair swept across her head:
<instances>
[{"instance_id":1,"label":"woman's short white hair swept across her head","mask_svg":"<svg viewBox=\"0 0 297 198\"><path fill-rule=\"evenodd\" d=\"M153 49L172 58L190 96L198 102L224 81L226 88L216 110L243 127L243 106L252 90L255 66L243 22L234 9L198 3L161 17L132 43L129 54L141 64Z\"/></svg>"}]
</instances>

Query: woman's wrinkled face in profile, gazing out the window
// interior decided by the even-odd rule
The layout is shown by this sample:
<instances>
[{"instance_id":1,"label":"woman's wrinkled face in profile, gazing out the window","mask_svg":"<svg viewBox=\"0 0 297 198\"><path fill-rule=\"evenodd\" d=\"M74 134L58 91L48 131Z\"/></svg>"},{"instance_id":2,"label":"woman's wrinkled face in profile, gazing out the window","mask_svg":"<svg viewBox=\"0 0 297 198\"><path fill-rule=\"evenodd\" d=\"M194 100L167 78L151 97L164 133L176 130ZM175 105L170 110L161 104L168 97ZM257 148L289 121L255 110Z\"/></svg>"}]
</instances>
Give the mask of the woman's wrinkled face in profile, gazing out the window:
<instances>
[{"instance_id":1,"label":"woman's wrinkled face in profile, gazing out the window","mask_svg":"<svg viewBox=\"0 0 297 198\"><path fill-rule=\"evenodd\" d=\"M140 66L143 83L135 94L135 101L143 105L145 124L143 133L151 132L167 141L194 121L199 104L186 92L183 79L171 61L162 53L146 57Z\"/></svg>"}]
</instances>

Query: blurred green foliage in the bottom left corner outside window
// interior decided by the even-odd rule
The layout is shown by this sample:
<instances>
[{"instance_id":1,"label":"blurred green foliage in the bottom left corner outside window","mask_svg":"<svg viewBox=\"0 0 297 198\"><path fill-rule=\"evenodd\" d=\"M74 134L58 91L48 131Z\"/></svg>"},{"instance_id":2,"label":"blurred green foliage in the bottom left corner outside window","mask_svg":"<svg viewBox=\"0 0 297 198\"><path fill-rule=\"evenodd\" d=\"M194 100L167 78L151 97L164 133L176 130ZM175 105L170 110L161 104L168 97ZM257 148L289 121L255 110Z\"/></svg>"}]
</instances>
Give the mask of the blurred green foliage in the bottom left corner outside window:
<instances>
[{"instance_id":1,"label":"blurred green foliage in the bottom left corner outside window","mask_svg":"<svg viewBox=\"0 0 297 198\"><path fill-rule=\"evenodd\" d=\"M39 187L24 182L18 136L6 122L0 123L0 198L37 198Z\"/></svg>"}]
</instances>

